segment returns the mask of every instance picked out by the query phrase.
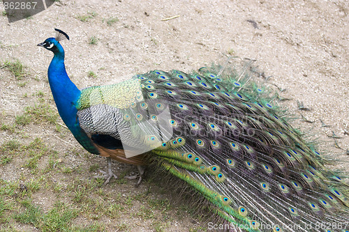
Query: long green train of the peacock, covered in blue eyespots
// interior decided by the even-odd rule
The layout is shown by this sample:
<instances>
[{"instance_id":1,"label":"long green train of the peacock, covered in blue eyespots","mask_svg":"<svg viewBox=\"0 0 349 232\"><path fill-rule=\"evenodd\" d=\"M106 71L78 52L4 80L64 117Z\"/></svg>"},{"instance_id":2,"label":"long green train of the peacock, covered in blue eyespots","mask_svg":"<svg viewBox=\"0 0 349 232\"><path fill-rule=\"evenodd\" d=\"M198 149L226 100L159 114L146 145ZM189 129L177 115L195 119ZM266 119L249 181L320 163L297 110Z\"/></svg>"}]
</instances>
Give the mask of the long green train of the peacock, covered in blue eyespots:
<instances>
[{"instance_id":1,"label":"long green train of the peacock, covered in blue eyespots","mask_svg":"<svg viewBox=\"0 0 349 232\"><path fill-rule=\"evenodd\" d=\"M172 115L173 139L151 154L163 157L163 168L238 228L323 231L315 225L326 223L344 228L348 187L334 182L314 148L278 116L281 110L268 93L246 83L247 74L230 70L218 76L219 71L156 70L138 76L144 95L167 100Z\"/></svg>"}]
</instances>

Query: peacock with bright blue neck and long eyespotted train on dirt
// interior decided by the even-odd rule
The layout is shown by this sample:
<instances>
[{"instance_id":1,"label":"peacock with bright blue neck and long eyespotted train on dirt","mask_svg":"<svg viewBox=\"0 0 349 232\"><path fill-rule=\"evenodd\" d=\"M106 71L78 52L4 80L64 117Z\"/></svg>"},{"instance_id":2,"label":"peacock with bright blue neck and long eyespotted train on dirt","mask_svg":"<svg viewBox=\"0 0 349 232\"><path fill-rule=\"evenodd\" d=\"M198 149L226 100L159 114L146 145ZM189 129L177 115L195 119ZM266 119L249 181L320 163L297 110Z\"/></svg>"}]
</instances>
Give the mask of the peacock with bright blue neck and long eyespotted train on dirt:
<instances>
[{"instance_id":1,"label":"peacock with bright blue neck and long eyespotted train on dirt","mask_svg":"<svg viewBox=\"0 0 349 232\"><path fill-rule=\"evenodd\" d=\"M348 185L247 72L152 70L79 90L64 66L69 37L55 30L38 46L54 53L47 74L59 115L90 153L184 181L224 222L214 231L348 231Z\"/></svg>"}]
</instances>

